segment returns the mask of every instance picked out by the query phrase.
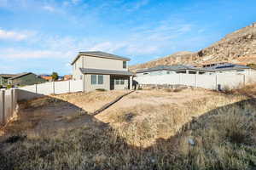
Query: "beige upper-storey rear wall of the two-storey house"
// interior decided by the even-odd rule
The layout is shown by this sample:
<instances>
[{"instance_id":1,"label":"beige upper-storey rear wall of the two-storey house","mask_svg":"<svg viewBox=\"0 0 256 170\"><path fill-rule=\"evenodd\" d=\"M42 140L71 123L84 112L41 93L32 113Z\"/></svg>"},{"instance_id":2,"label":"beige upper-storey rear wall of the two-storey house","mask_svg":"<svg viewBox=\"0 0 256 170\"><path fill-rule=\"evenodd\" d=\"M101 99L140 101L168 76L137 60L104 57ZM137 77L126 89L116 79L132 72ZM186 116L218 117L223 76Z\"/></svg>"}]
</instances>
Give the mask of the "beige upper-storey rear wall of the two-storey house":
<instances>
[{"instance_id":1,"label":"beige upper-storey rear wall of the two-storey house","mask_svg":"<svg viewBox=\"0 0 256 170\"><path fill-rule=\"evenodd\" d=\"M82 62L84 60L84 65L80 64L81 68L128 71L128 61L126 61L126 68L124 69L123 60L119 59L105 59L92 56L81 56L80 59Z\"/></svg>"}]
</instances>

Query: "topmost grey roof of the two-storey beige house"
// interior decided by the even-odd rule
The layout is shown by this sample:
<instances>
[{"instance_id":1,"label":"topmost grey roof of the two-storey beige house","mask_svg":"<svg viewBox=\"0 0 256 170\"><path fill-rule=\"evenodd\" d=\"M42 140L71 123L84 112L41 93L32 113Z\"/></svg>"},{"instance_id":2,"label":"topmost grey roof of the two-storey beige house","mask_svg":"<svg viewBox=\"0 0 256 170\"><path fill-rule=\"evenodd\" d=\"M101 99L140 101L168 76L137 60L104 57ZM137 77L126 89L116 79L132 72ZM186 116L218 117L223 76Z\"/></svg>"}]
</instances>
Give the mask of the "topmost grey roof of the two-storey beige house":
<instances>
[{"instance_id":1,"label":"topmost grey roof of the two-storey beige house","mask_svg":"<svg viewBox=\"0 0 256 170\"><path fill-rule=\"evenodd\" d=\"M102 51L88 51L88 52L79 52L78 56L75 59L73 59L73 62L71 63L71 65L73 65L81 55L89 55L89 56L105 58L105 59L119 59L119 60L125 60L125 61L131 60L125 57L120 57L115 54L108 54Z\"/></svg>"}]
</instances>

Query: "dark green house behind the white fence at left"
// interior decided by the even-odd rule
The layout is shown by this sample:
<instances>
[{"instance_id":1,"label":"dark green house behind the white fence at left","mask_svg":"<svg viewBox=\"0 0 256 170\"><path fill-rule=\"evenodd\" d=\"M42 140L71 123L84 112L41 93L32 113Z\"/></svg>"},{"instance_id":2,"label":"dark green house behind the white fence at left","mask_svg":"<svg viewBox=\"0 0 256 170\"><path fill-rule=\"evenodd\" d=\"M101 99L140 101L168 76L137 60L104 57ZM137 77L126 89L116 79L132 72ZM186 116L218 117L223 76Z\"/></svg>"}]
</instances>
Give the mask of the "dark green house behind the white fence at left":
<instances>
[{"instance_id":1,"label":"dark green house behind the white fence at left","mask_svg":"<svg viewBox=\"0 0 256 170\"><path fill-rule=\"evenodd\" d=\"M17 85L26 86L26 85L32 85L37 83L43 83L43 82L46 82L46 81L35 74L28 74L26 76L19 77L14 80L9 80L9 83L15 86Z\"/></svg>"}]
</instances>

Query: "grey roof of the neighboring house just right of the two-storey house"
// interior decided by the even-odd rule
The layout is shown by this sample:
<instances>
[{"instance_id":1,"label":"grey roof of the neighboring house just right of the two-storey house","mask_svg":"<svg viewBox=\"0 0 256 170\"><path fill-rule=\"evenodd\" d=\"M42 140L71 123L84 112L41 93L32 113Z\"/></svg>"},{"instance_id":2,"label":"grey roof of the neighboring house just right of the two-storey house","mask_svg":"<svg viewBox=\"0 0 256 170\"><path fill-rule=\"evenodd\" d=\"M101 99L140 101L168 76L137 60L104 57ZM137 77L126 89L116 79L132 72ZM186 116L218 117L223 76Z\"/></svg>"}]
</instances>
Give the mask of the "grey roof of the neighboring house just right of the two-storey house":
<instances>
[{"instance_id":1,"label":"grey roof of the neighboring house just right of the two-storey house","mask_svg":"<svg viewBox=\"0 0 256 170\"><path fill-rule=\"evenodd\" d=\"M137 71L137 73L143 73L148 71L183 71L183 70L205 71L204 68L194 67L190 65L158 65L153 68L139 70Z\"/></svg>"}]
</instances>

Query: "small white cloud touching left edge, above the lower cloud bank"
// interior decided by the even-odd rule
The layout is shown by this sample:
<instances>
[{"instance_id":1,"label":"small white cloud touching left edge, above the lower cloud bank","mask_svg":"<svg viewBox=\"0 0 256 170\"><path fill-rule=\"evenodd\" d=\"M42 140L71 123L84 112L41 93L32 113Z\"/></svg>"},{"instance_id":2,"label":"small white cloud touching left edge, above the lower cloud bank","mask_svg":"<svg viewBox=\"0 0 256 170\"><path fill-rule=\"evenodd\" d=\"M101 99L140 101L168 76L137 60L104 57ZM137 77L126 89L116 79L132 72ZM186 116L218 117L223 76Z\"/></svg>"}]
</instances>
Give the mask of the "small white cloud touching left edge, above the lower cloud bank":
<instances>
[{"instance_id":1,"label":"small white cloud touching left edge, above the lower cloud bank","mask_svg":"<svg viewBox=\"0 0 256 170\"><path fill-rule=\"evenodd\" d=\"M22 41L32 36L32 32L5 31L0 28L0 40Z\"/></svg>"}]
</instances>

